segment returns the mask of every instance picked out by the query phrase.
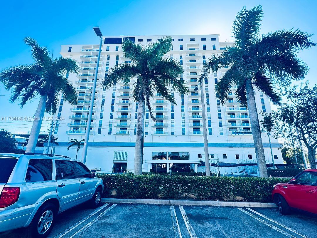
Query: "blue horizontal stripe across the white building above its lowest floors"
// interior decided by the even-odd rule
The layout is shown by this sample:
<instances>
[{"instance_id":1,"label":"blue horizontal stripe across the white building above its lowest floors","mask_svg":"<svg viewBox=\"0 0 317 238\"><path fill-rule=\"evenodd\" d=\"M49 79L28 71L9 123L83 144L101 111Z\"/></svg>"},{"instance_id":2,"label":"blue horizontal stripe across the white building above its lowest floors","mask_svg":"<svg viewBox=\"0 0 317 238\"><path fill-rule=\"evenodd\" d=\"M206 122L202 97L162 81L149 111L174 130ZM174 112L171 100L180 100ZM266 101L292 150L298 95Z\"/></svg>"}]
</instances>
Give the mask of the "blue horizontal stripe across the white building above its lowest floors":
<instances>
[{"instance_id":1,"label":"blue horizontal stripe across the white building above its lowest floors","mask_svg":"<svg viewBox=\"0 0 317 238\"><path fill-rule=\"evenodd\" d=\"M69 146L68 142L57 142L58 146ZM46 143L45 143L46 145ZM282 145L279 143L272 143L272 148L279 148ZM55 146L54 147L58 147ZM135 147L134 142L88 142L88 146L95 147ZM167 142L144 142L144 147L204 147L204 143L167 143ZM252 148L253 143L208 143L208 147L233 147L233 148ZM269 143L263 143L264 148L269 148Z\"/></svg>"}]
</instances>

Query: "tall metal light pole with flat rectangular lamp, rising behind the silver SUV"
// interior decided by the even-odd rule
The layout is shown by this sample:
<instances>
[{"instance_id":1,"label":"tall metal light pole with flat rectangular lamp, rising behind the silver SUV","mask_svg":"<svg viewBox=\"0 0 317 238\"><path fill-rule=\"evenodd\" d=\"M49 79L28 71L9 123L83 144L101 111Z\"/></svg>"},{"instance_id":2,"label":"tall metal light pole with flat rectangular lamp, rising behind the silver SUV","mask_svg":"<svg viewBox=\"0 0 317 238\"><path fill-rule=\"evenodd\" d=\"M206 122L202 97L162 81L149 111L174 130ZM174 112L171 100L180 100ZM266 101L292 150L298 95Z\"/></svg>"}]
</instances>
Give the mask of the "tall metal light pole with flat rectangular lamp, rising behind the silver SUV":
<instances>
[{"instance_id":1,"label":"tall metal light pole with flat rectangular lamp, rising behind the silver SUV","mask_svg":"<svg viewBox=\"0 0 317 238\"><path fill-rule=\"evenodd\" d=\"M96 92L96 84L97 84L97 76L98 76L98 68L99 68L100 53L101 53L101 46L102 46L102 33L101 33L99 27L93 27L93 28L94 28L94 31L95 31L96 35L100 37L100 43L99 43L99 51L98 51L98 58L97 58L97 64L96 64L95 78L94 78L94 86L93 86L93 91L91 93L90 108L89 108L89 112L88 112L88 121L87 121L87 127L86 127L85 142L84 142L84 148L83 148L83 152L82 152L82 162L84 164L86 163L86 157L87 157L87 149L88 149L88 140L89 140L89 133L90 133L91 117L92 117L92 114L93 114L95 92Z\"/></svg>"}]
</instances>

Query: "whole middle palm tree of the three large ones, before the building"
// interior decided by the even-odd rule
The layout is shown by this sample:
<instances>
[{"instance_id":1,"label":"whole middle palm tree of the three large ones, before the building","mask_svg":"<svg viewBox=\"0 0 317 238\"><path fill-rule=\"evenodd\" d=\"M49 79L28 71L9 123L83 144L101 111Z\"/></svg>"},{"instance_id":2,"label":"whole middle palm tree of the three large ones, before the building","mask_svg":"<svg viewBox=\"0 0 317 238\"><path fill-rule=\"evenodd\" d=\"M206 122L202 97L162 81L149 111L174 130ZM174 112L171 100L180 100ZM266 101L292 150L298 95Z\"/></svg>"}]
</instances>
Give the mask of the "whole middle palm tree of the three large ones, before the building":
<instances>
[{"instance_id":1,"label":"whole middle palm tree of the three large ones, before the building","mask_svg":"<svg viewBox=\"0 0 317 238\"><path fill-rule=\"evenodd\" d=\"M131 60L132 63L122 63L114 67L103 82L103 87L109 89L112 84L119 82L129 84L131 78L136 78L136 82L133 84L133 99L138 102L134 156L134 173L136 175L142 173L145 104L151 118L156 121L150 102L154 91L173 104L176 104L176 101L169 87L179 94L189 91L185 83L178 79L184 71L183 67L178 61L163 57L170 51L171 42L172 38L166 36L143 47L130 40L125 40L122 43L123 56Z\"/></svg>"}]
</instances>

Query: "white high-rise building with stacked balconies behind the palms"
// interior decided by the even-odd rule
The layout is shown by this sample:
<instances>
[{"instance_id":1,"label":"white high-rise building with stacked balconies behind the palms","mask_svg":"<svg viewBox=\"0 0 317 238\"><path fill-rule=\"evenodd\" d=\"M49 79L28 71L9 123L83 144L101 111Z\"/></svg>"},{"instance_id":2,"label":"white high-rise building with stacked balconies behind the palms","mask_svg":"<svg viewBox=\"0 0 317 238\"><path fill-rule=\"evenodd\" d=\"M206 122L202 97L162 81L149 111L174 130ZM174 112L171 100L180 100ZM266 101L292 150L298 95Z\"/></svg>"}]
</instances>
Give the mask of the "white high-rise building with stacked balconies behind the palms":
<instances>
[{"instance_id":1,"label":"white high-rise building with stacked balconies behind the palms","mask_svg":"<svg viewBox=\"0 0 317 238\"><path fill-rule=\"evenodd\" d=\"M102 172L133 171L134 142L136 134L137 105L133 101L129 85L119 83L103 90L102 80L108 71L122 62L121 43L129 38L135 43L146 45L162 36L114 36L103 37L102 52L97 77L97 89L87 152L87 166ZM152 172L199 172L204 161L202 135L202 110L200 90L194 91L197 77L209 57L221 53L230 43L221 43L219 35L173 35L173 47L166 55L178 60L184 67L181 78L189 85L188 95L174 93L177 105L171 105L155 93L152 109L157 121L153 122L146 110L143 171ZM98 40L96 39L96 43ZM61 99L55 127L58 146L55 154L76 156L76 148L67 151L68 142L75 138L84 139L92 85L96 69L99 45L62 45L61 55L71 57L80 65L79 75L67 75L78 92L78 105L71 106ZM210 75L204 82L207 112L207 133L211 162L250 163L256 162L248 110L239 103L232 88L225 105L216 98L215 85L227 69ZM270 112L270 102L262 93L256 92L259 110ZM261 118L261 116L260 116ZM272 163L268 136L262 133L264 152L268 163ZM275 163L282 163L280 144L271 138ZM78 159L81 159L82 149ZM212 172L221 174L248 174L254 167L211 167Z\"/></svg>"}]
</instances>

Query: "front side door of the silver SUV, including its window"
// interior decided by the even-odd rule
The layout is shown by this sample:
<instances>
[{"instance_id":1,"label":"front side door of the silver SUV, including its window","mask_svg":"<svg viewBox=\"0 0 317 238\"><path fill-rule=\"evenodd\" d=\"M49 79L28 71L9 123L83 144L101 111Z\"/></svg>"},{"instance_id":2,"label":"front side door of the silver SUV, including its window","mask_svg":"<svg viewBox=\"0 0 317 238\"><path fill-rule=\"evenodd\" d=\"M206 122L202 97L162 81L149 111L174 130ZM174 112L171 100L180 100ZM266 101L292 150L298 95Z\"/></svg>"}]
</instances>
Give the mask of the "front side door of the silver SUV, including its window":
<instances>
[{"instance_id":1,"label":"front side door of the silver SUV, including its window","mask_svg":"<svg viewBox=\"0 0 317 238\"><path fill-rule=\"evenodd\" d=\"M77 177L80 181L78 203L88 201L95 192L97 180L92 178L91 171L81 162L74 162L77 171Z\"/></svg>"}]
</instances>

